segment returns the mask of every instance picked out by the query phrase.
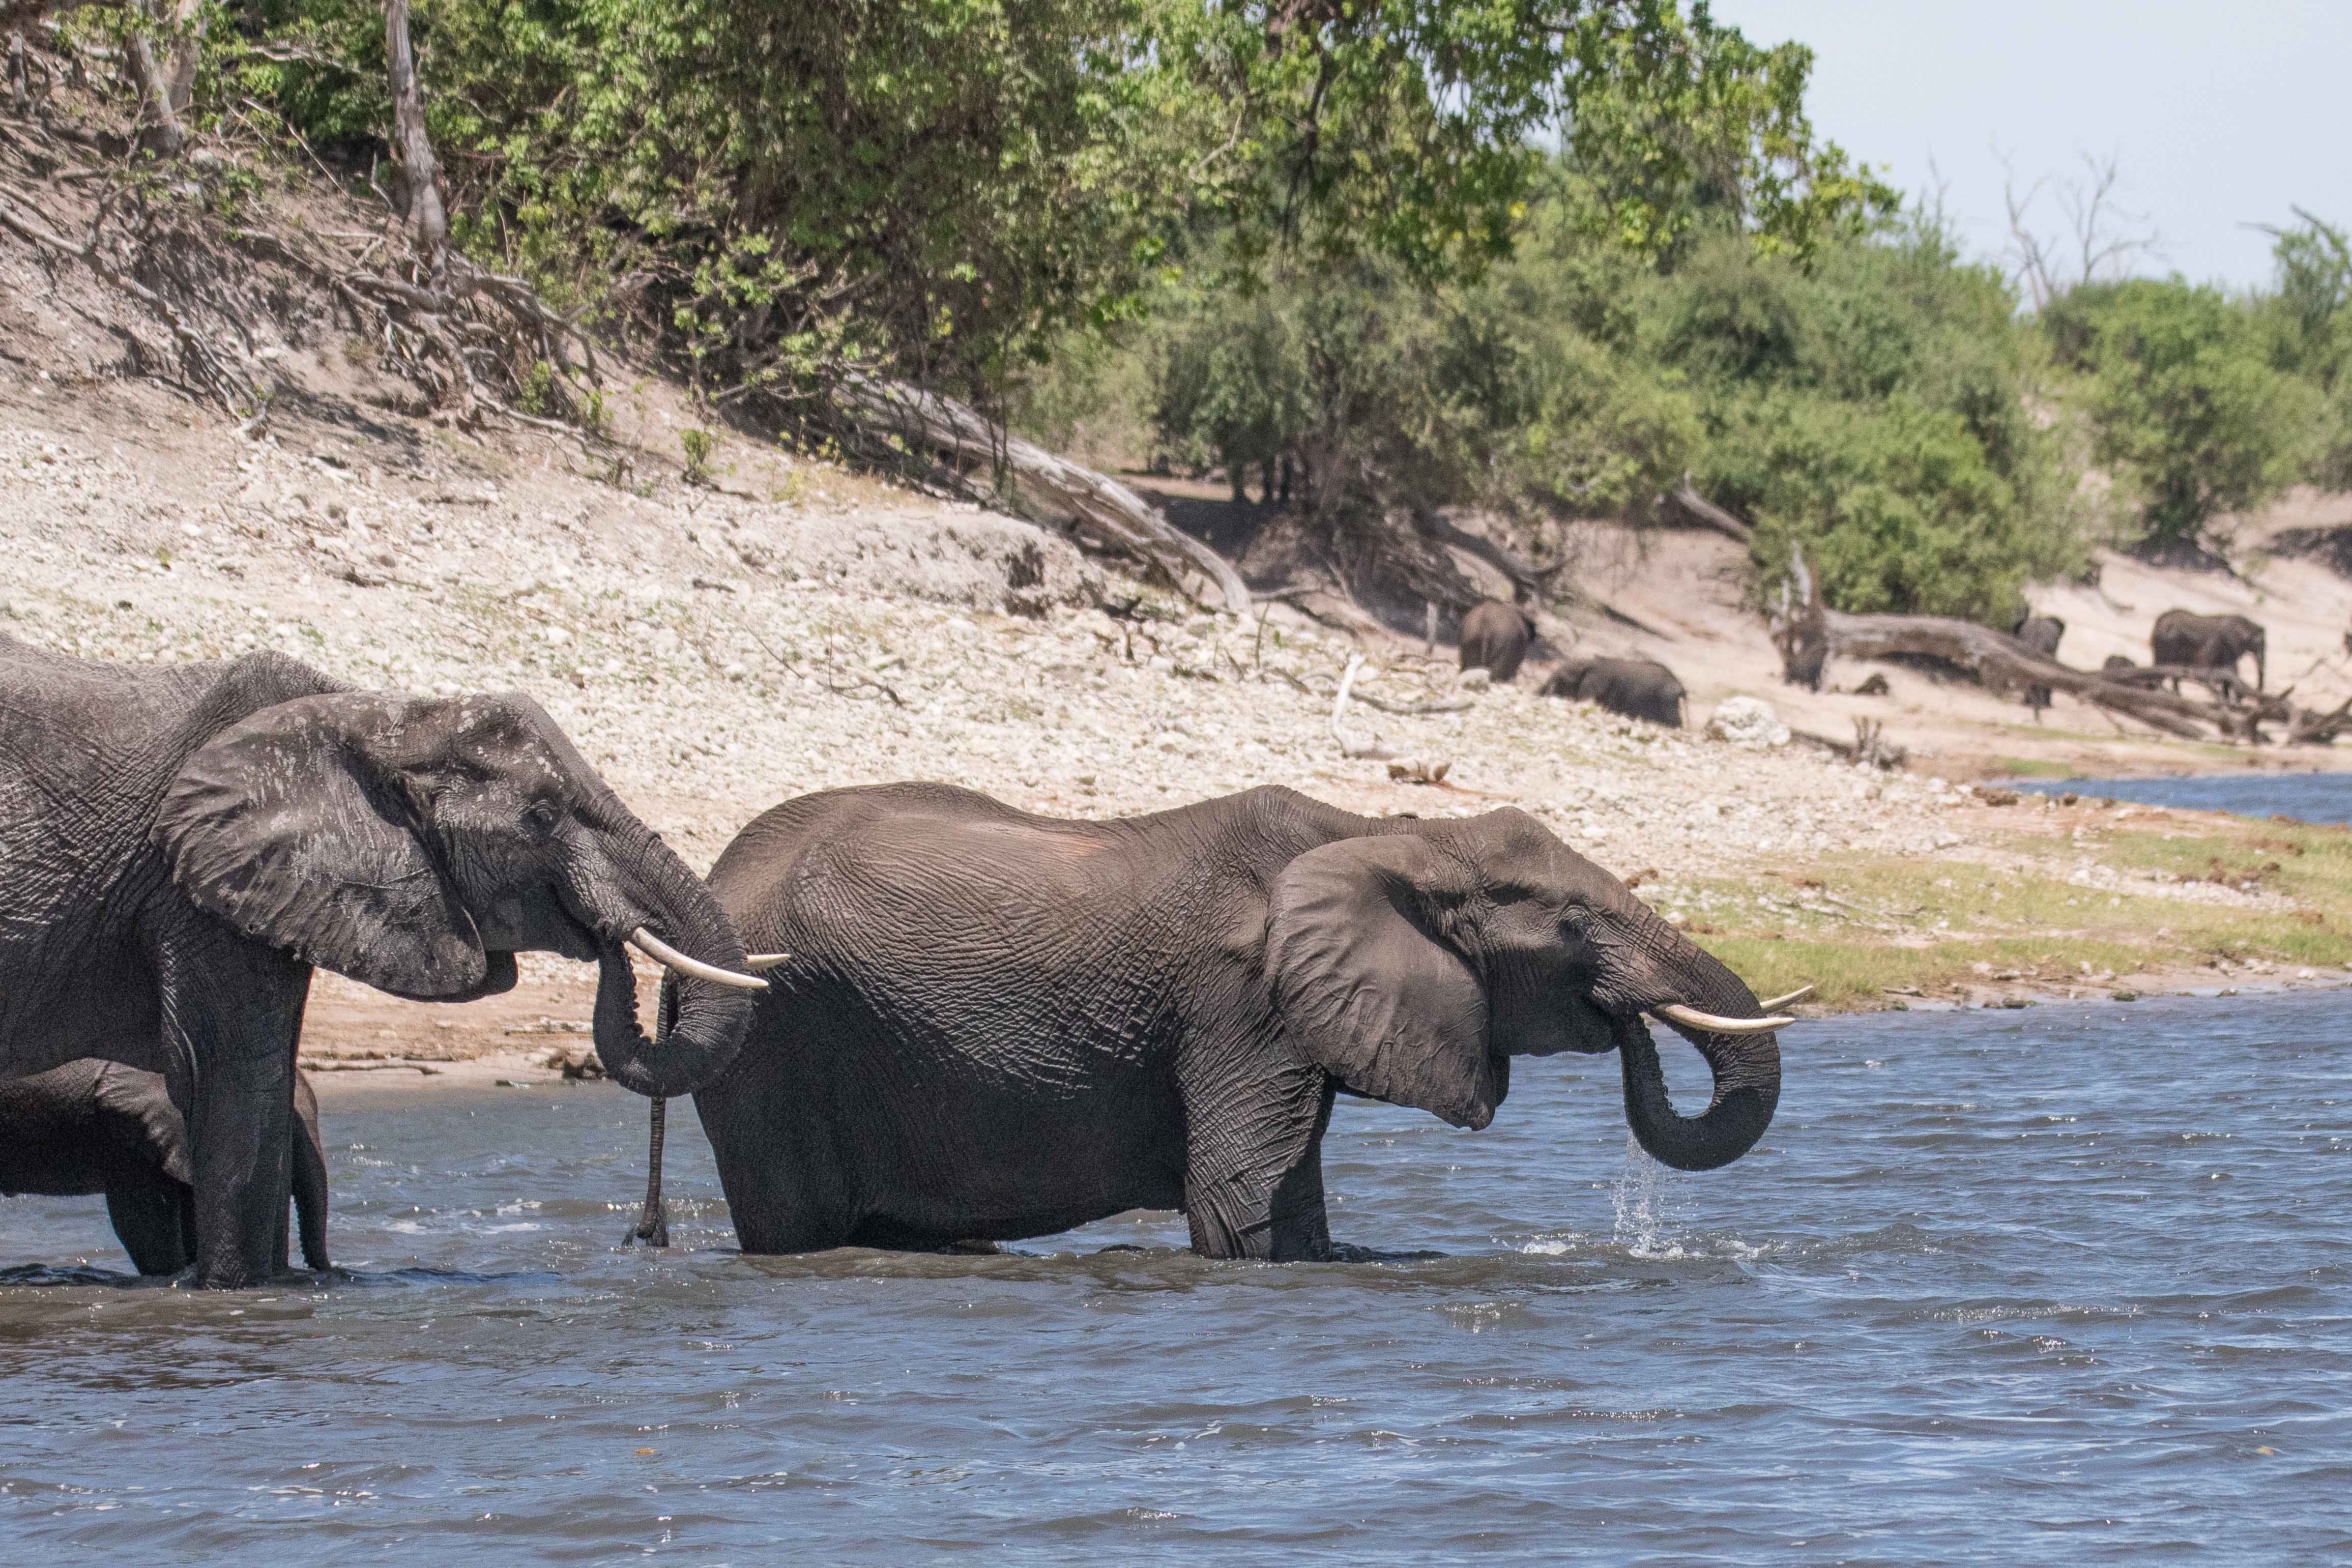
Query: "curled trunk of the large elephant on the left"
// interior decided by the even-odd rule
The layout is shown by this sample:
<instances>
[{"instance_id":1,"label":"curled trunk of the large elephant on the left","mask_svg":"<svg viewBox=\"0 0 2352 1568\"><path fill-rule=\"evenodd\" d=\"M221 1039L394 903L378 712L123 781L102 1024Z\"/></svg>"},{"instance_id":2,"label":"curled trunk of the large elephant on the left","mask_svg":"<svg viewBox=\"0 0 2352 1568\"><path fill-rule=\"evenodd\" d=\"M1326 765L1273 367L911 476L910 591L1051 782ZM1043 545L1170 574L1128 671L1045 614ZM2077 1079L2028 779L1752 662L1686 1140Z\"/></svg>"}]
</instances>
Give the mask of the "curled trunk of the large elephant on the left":
<instances>
[{"instance_id":1,"label":"curled trunk of the large elephant on the left","mask_svg":"<svg viewBox=\"0 0 2352 1568\"><path fill-rule=\"evenodd\" d=\"M677 1011L656 1044L637 1023L637 976L628 938L644 929L687 959L736 973L743 971L743 943L710 889L649 827L633 820L630 832L619 837L623 853L614 863L586 863L572 879L572 896L590 912L602 947L595 1053L621 1088L656 1098L687 1095L734 1063L750 1023L753 994L673 973Z\"/></svg>"}]
</instances>

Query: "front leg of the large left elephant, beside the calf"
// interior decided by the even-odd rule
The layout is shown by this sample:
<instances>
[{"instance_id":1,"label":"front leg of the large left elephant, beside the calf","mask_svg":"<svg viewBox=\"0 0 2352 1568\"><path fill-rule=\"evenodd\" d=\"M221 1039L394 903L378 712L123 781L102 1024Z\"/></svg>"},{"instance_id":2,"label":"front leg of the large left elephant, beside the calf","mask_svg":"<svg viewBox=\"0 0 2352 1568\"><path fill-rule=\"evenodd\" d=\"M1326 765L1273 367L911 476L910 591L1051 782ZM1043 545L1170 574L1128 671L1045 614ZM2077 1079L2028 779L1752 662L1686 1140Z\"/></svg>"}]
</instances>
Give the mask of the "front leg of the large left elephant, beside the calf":
<instances>
[{"instance_id":1,"label":"front leg of the large left elephant, beside the calf","mask_svg":"<svg viewBox=\"0 0 2352 1568\"><path fill-rule=\"evenodd\" d=\"M158 952L172 1098L195 1187L191 1284L242 1291L287 1267L294 1041L310 969L226 929Z\"/></svg>"}]
</instances>

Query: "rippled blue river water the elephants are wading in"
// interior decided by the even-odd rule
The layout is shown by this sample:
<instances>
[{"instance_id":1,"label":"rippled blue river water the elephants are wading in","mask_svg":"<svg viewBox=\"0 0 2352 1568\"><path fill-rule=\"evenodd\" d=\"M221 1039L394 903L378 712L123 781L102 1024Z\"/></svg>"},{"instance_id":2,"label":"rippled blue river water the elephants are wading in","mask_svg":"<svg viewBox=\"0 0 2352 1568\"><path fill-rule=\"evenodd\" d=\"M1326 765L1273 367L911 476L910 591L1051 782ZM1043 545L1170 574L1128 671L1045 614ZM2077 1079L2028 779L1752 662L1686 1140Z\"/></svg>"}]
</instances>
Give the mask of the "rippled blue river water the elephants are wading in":
<instances>
[{"instance_id":1,"label":"rippled blue river water the elephants are wading in","mask_svg":"<svg viewBox=\"0 0 2352 1568\"><path fill-rule=\"evenodd\" d=\"M2345 1016L1809 1023L1708 1175L1628 1157L1613 1058L1484 1133L1343 1100L1334 1234L1395 1258L1301 1267L741 1258L691 1114L619 1251L642 1103L329 1095L343 1284L125 1288L96 1199L0 1201L0 1556L2319 1561Z\"/></svg>"}]
</instances>

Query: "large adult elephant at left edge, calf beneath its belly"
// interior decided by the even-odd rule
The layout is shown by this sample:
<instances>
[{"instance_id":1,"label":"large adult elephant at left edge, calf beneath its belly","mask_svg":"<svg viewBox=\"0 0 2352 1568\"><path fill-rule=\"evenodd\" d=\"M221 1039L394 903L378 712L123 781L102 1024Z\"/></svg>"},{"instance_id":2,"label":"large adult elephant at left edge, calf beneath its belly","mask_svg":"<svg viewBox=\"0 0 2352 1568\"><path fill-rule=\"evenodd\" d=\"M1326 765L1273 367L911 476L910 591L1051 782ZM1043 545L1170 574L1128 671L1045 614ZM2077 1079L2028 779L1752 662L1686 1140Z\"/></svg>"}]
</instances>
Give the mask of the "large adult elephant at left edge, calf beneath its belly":
<instances>
[{"instance_id":1,"label":"large adult elephant at left edge, calf beneath its belly","mask_svg":"<svg viewBox=\"0 0 2352 1568\"><path fill-rule=\"evenodd\" d=\"M607 1070L687 1093L750 1006L691 980L656 1051L621 947L640 924L741 964L701 882L529 698L0 637L0 1077L78 1058L165 1074L188 1126L193 1284L285 1267L310 966L466 1001L508 990L517 952L593 959Z\"/></svg>"}]
</instances>

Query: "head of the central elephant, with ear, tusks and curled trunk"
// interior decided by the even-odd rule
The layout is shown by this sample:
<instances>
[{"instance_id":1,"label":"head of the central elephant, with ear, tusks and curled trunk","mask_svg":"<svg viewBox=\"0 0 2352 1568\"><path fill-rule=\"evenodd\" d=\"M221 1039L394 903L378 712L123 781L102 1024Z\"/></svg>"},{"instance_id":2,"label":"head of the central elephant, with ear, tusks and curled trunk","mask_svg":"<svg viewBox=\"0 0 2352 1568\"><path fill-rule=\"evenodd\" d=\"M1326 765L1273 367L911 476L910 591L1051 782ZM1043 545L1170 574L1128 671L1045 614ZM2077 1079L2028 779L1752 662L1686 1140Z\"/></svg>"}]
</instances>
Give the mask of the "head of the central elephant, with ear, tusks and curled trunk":
<instances>
[{"instance_id":1,"label":"head of the central elephant, with ear, tusks and curled trunk","mask_svg":"<svg viewBox=\"0 0 2352 1568\"><path fill-rule=\"evenodd\" d=\"M1710 1171L1764 1135L1780 1100L1773 1030L1790 1018L1762 1016L1738 976L1534 818L1416 827L1310 849L1275 884L1275 1004L1317 1065L1479 1128L1512 1056L1616 1048L1625 1121L1658 1161ZM1708 1058L1700 1114L1668 1100L1644 1016Z\"/></svg>"}]
</instances>

